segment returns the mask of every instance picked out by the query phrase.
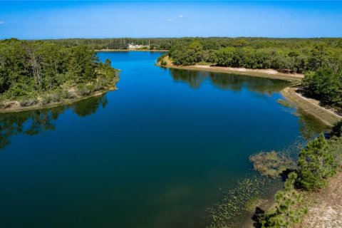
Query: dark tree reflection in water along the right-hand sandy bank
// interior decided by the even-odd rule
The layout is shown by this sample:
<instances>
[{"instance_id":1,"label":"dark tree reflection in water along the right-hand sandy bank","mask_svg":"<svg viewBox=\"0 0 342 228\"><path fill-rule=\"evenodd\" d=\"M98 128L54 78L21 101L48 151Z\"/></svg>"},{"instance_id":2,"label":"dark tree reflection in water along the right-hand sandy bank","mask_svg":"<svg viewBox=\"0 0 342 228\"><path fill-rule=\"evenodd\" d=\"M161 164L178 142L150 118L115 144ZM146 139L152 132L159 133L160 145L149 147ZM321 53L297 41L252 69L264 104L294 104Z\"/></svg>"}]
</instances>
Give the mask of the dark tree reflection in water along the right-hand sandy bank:
<instances>
[{"instance_id":1,"label":"dark tree reflection in water along the right-hand sandy bank","mask_svg":"<svg viewBox=\"0 0 342 228\"><path fill-rule=\"evenodd\" d=\"M213 86L222 90L240 91L242 88L247 88L247 90L261 93L280 91L289 84L286 81L276 79L207 71L186 71L170 68L170 73L175 81L186 82L192 88L199 88L206 79L209 79Z\"/></svg>"}]
</instances>

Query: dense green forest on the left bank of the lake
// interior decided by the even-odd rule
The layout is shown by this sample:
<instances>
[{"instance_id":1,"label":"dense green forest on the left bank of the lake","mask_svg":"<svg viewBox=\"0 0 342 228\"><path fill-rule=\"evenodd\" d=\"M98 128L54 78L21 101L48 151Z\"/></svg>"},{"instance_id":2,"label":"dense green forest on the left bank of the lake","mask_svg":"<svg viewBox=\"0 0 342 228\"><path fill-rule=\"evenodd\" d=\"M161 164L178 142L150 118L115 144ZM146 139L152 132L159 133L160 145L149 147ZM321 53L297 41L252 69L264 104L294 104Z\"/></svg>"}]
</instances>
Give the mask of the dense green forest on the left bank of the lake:
<instances>
[{"instance_id":1,"label":"dense green forest on the left bank of the lake","mask_svg":"<svg viewBox=\"0 0 342 228\"><path fill-rule=\"evenodd\" d=\"M90 95L115 83L118 73L110 65L83 45L0 41L0 106L45 105Z\"/></svg>"}]
</instances>

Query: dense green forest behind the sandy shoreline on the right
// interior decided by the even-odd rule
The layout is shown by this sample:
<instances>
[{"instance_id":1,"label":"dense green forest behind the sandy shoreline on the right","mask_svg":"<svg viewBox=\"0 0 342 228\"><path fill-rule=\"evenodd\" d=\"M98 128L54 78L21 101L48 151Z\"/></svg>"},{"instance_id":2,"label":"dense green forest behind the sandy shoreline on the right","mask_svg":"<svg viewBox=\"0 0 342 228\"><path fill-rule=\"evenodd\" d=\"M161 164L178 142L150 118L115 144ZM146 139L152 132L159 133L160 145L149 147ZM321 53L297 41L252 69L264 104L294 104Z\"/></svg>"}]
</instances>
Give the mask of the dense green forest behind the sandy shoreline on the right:
<instances>
[{"instance_id":1,"label":"dense green forest behind the sandy shoreline on the right","mask_svg":"<svg viewBox=\"0 0 342 228\"><path fill-rule=\"evenodd\" d=\"M172 43L169 56L183 66L199 63L304 73L304 93L341 111L342 38L181 38Z\"/></svg>"}]
</instances>

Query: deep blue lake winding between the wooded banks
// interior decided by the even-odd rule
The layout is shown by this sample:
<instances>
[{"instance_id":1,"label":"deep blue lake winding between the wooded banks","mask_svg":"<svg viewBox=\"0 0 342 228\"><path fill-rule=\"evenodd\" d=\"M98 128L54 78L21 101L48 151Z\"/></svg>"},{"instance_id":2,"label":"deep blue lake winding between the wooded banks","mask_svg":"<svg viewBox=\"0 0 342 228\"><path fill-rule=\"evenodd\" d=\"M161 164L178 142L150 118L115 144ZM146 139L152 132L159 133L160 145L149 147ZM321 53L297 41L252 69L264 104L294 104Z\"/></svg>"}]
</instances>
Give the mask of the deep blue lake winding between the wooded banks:
<instances>
[{"instance_id":1,"label":"deep blue lake winding between the wooded banks","mask_svg":"<svg viewBox=\"0 0 342 228\"><path fill-rule=\"evenodd\" d=\"M276 102L284 81L155 66L157 52L100 52L118 90L0 115L0 227L205 227L249 155L323 126ZM261 177L260 177L261 178Z\"/></svg>"}]
</instances>

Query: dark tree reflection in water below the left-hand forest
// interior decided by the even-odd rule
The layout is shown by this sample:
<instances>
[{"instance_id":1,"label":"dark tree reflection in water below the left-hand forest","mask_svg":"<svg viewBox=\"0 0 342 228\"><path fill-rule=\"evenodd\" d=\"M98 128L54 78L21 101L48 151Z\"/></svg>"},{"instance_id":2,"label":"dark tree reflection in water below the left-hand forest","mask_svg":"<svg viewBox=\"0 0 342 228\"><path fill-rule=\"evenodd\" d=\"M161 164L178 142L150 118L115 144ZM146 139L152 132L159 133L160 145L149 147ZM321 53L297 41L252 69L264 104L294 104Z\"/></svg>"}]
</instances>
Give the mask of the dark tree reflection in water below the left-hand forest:
<instances>
[{"instance_id":1,"label":"dark tree reflection in water below the left-hand forest","mask_svg":"<svg viewBox=\"0 0 342 228\"><path fill-rule=\"evenodd\" d=\"M105 95L100 95L57 108L3 113L0 115L0 149L11 143L13 135L38 135L46 130L54 130L58 116L69 108L84 117L95 113L100 105L105 108L107 103Z\"/></svg>"}]
</instances>

